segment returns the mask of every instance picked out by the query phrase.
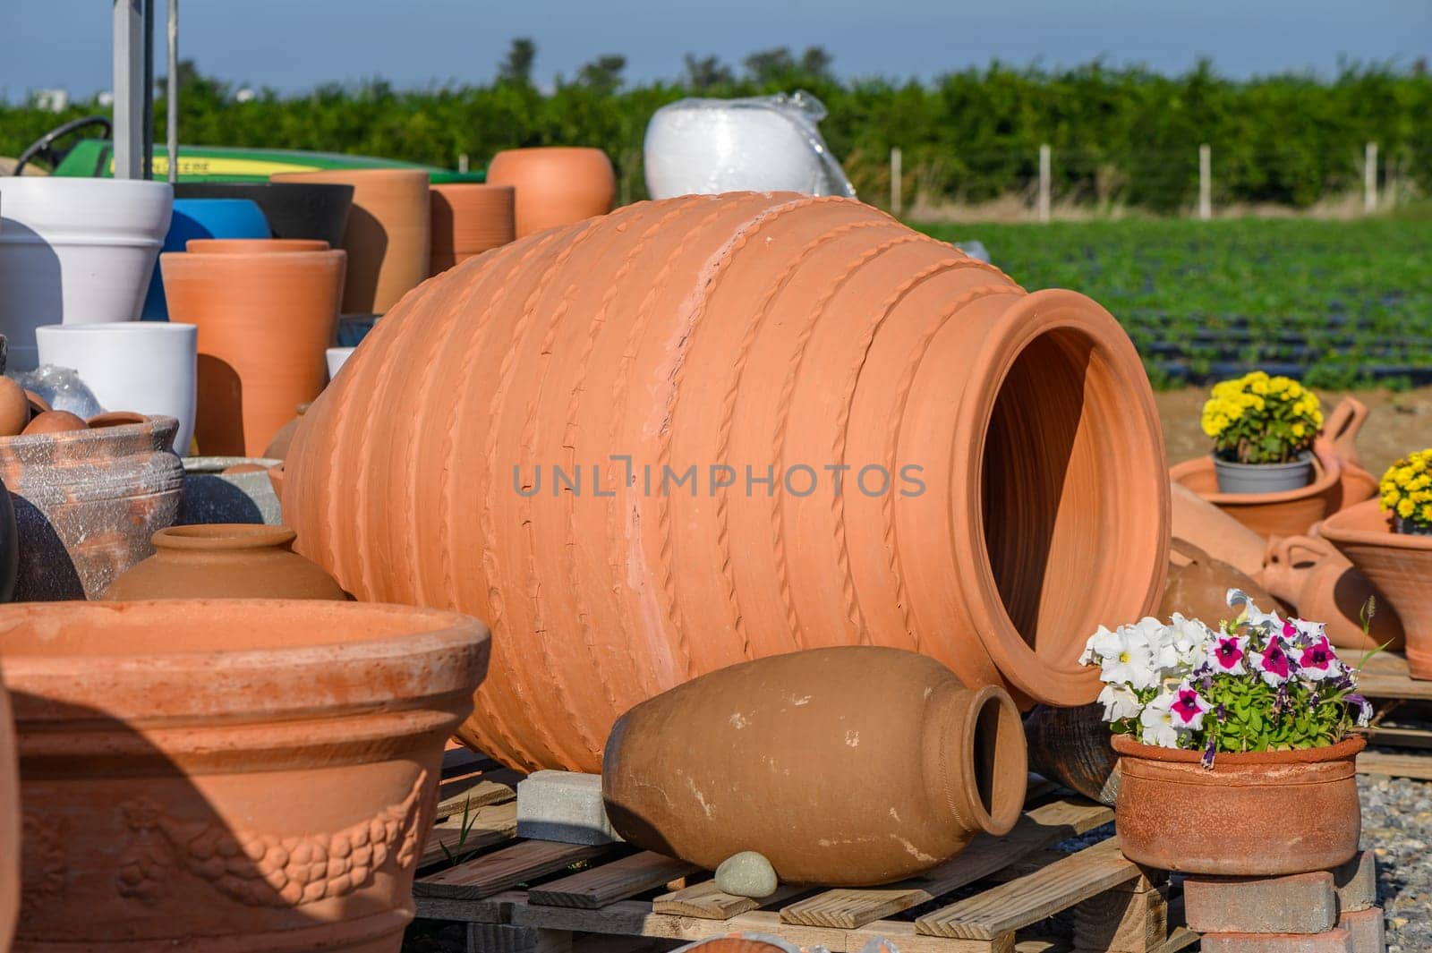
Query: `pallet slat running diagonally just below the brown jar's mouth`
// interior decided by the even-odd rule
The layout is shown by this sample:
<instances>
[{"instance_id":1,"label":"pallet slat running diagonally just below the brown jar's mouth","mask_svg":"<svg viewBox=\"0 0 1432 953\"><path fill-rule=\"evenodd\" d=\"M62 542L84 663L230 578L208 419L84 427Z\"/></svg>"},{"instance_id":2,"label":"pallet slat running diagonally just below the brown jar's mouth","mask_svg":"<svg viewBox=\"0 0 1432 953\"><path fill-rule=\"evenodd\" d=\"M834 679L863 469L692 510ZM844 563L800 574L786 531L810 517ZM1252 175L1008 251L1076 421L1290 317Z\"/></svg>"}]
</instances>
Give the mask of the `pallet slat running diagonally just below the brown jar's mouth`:
<instances>
[{"instance_id":1,"label":"pallet slat running diagonally just below the brown jar's mouth","mask_svg":"<svg viewBox=\"0 0 1432 953\"><path fill-rule=\"evenodd\" d=\"M780 922L851 930L937 900L1050 844L1090 831L1113 818L1111 808L1083 798L1050 801L1025 811L1014 830L1004 837L981 834L952 860L919 877L874 890L826 890L782 909Z\"/></svg>"}]
</instances>

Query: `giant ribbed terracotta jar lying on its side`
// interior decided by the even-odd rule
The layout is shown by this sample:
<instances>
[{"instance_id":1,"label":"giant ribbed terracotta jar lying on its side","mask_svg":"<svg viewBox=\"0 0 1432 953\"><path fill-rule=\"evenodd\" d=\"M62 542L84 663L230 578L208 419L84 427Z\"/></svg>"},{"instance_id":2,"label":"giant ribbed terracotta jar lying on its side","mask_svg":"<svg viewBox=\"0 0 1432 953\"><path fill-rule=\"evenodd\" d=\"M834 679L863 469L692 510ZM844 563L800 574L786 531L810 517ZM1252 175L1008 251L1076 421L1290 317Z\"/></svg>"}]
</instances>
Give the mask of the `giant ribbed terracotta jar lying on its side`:
<instances>
[{"instance_id":1,"label":"giant ribbed terracotta jar lying on its side","mask_svg":"<svg viewBox=\"0 0 1432 953\"><path fill-rule=\"evenodd\" d=\"M427 282L304 415L284 512L357 598L494 627L464 740L594 771L636 703L798 648L1093 701L1088 634L1163 591L1163 468L1094 302L859 202L736 193Z\"/></svg>"}]
</instances>

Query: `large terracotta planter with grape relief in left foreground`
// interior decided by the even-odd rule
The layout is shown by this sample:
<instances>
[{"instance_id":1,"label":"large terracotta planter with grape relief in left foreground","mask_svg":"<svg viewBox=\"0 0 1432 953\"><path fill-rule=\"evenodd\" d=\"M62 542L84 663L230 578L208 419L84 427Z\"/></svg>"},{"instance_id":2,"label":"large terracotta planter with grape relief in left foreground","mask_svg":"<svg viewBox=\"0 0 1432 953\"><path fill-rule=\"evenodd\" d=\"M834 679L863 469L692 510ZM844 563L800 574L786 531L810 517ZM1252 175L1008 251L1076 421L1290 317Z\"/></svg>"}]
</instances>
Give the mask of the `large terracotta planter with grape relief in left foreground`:
<instances>
[{"instance_id":1,"label":"large terracotta planter with grape relief in left foreground","mask_svg":"<svg viewBox=\"0 0 1432 953\"><path fill-rule=\"evenodd\" d=\"M20 947L397 953L485 661L477 620L394 605L0 611Z\"/></svg>"}]
</instances>

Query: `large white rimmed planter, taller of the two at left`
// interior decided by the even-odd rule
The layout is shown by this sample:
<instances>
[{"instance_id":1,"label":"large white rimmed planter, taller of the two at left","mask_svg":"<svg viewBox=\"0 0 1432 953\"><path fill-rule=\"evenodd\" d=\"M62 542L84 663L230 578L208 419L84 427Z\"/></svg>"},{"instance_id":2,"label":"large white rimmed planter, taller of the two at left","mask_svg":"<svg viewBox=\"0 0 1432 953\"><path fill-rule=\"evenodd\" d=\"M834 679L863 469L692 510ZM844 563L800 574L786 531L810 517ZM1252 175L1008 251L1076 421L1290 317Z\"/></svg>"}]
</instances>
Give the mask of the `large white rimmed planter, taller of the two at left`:
<instances>
[{"instance_id":1,"label":"large white rimmed planter, taller of the two at left","mask_svg":"<svg viewBox=\"0 0 1432 953\"><path fill-rule=\"evenodd\" d=\"M0 333L10 369L37 363L34 329L133 321L169 230L165 182L0 177Z\"/></svg>"}]
</instances>

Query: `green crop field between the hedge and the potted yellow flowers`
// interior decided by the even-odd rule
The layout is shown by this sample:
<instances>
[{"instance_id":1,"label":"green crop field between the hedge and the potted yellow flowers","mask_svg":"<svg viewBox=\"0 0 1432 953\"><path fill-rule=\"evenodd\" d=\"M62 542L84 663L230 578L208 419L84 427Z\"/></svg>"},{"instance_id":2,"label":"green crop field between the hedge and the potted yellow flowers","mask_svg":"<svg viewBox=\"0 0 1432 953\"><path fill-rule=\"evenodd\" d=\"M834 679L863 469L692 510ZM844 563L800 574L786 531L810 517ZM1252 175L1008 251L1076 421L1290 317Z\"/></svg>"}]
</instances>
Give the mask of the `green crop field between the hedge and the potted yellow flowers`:
<instances>
[{"instance_id":1,"label":"green crop field between the hedge and the potted yellow flowers","mask_svg":"<svg viewBox=\"0 0 1432 953\"><path fill-rule=\"evenodd\" d=\"M1253 368L1313 386L1432 382L1432 218L925 225L1030 290L1123 322L1157 386Z\"/></svg>"}]
</instances>

